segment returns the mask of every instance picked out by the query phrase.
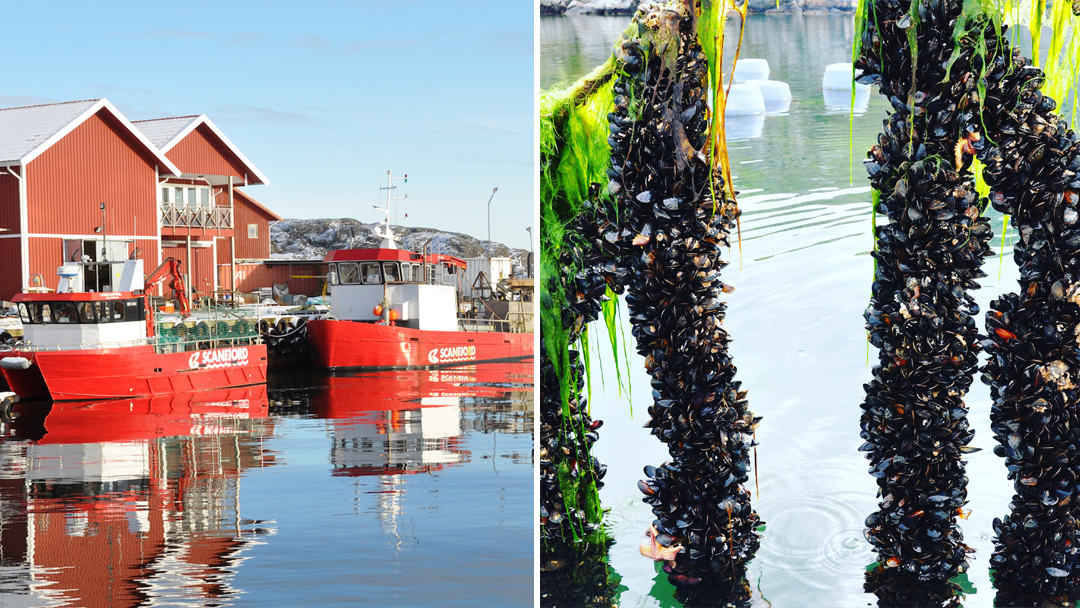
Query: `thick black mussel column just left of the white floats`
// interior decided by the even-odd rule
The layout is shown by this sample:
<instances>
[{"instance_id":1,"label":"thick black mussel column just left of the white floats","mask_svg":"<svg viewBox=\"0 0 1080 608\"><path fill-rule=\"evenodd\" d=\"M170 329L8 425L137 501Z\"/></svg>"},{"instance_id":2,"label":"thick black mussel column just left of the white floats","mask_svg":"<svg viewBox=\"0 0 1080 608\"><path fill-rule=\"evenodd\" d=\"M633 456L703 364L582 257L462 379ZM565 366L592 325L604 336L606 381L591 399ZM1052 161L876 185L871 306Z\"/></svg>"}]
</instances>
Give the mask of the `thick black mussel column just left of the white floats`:
<instances>
[{"instance_id":1,"label":"thick black mussel column just left of the white floats","mask_svg":"<svg viewBox=\"0 0 1080 608\"><path fill-rule=\"evenodd\" d=\"M680 600L740 603L761 522L742 486L759 418L734 380L720 300L731 291L720 248L739 211L706 156L707 66L692 19L653 3L635 18L645 27L616 49L608 116L608 193L622 215L604 235L630 252L625 301L652 377L646 425L672 457L638 484L656 515L642 552L665 563Z\"/></svg>"}]
</instances>

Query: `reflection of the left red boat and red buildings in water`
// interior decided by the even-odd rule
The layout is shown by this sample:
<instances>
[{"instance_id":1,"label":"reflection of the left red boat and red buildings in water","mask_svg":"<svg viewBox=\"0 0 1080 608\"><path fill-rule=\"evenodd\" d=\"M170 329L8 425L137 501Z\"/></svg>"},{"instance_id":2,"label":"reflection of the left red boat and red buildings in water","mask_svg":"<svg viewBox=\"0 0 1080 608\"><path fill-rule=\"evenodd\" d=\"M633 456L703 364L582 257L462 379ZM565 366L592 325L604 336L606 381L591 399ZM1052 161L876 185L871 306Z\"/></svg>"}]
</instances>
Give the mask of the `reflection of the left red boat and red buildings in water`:
<instances>
[{"instance_id":1,"label":"reflection of the left red boat and red buildings in water","mask_svg":"<svg viewBox=\"0 0 1080 608\"><path fill-rule=\"evenodd\" d=\"M266 387L19 404L0 438L4 606L217 603L273 527L240 477L274 464ZM22 599L25 599L23 602Z\"/></svg>"}]
</instances>

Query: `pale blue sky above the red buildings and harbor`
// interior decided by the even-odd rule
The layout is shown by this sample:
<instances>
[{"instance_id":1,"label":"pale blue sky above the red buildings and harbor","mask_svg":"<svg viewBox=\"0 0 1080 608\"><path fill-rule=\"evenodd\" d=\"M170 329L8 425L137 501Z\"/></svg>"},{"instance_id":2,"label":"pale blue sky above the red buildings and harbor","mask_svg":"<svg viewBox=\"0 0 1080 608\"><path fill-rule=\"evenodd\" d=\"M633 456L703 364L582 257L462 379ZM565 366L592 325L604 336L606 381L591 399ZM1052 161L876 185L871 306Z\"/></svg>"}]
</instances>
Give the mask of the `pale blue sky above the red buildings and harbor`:
<instances>
[{"instance_id":1,"label":"pale blue sky above the red buildings and harbor","mask_svg":"<svg viewBox=\"0 0 1080 608\"><path fill-rule=\"evenodd\" d=\"M532 0L4 4L0 107L107 97L130 120L205 113L283 217L376 221L528 247Z\"/></svg>"}]
</instances>

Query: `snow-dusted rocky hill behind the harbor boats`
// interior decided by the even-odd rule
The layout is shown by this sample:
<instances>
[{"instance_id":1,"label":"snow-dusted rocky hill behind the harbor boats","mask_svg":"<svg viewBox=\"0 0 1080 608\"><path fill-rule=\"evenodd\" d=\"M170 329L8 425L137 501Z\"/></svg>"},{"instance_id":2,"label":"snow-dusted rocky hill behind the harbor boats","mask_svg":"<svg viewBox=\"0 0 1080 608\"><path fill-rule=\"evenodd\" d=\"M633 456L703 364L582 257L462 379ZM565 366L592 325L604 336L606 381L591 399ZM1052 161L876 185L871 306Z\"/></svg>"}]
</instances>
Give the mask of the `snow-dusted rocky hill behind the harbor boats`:
<instances>
[{"instance_id":1,"label":"snow-dusted rocky hill behind the harbor boats","mask_svg":"<svg viewBox=\"0 0 1080 608\"><path fill-rule=\"evenodd\" d=\"M379 246L373 229L352 218L283 219L270 226L270 256L274 259L323 259L333 249L360 249ZM413 252L446 254L460 258L509 257L513 259L514 276L528 276L529 252L515 249L468 234L443 232L432 228L394 226L400 239L397 246Z\"/></svg>"}]
</instances>

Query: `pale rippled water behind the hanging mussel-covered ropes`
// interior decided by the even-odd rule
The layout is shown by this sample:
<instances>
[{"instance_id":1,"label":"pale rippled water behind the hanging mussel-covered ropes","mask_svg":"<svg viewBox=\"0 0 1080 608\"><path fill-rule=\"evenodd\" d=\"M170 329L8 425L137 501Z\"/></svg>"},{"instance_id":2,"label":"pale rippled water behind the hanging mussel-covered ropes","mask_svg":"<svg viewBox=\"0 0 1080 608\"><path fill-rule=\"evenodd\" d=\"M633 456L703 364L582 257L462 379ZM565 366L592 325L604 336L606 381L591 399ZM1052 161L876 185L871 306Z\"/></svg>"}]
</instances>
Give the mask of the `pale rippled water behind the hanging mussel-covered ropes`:
<instances>
[{"instance_id":1,"label":"pale rippled water behind the hanging mussel-covered ropes","mask_svg":"<svg viewBox=\"0 0 1080 608\"><path fill-rule=\"evenodd\" d=\"M588 73L607 57L627 22L541 18L541 86ZM787 82L794 98L784 114L728 119L743 216L741 253L733 247L725 270L725 282L737 287L726 325L734 338L737 379L750 393L751 409L765 417L757 432L759 491L755 472L748 484L767 523L750 566L755 603L761 606L877 604L863 591L864 572L875 560L863 521L877 498L867 461L858 451L862 384L870 379L868 355L874 357L862 317L873 280L873 240L868 180L860 160L880 131L887 103L875 91L856 103L850 123L845 100L826 98L821 86L825 66L851 60L852 36L850 15L751 15L742 56L768 59L770 78ZM1000 214L989 215L1000 233ZM1007 237L1003 262L986 261L989 276L976 293L983 310L998 294L1015 291L1011 242ZM1001 245L999 238L991 242L995 252ZM602 324L595 330L592 343L607 343ZM632 341L625 311L623 338ZM636 482L646 464L660 464L667 452L642 428L649 378L632 343L627 351L630 398L617 390L610 349L593 354L604 370L604 382L593 381L592 413L605 422L594 454L608 465L600 499L610 509L607 523L616 540L610 565L622 579L622 606L677 606L666 575L637 549L652 514ZM982 451L968 459L971 515L959 522L976 551L963 605L991 606L990 524L1008 513L1012 484L1003 459L993 454L989 388L976 380L967 403L975 430L971 445Z\"/></svg>"}]
</instances>

